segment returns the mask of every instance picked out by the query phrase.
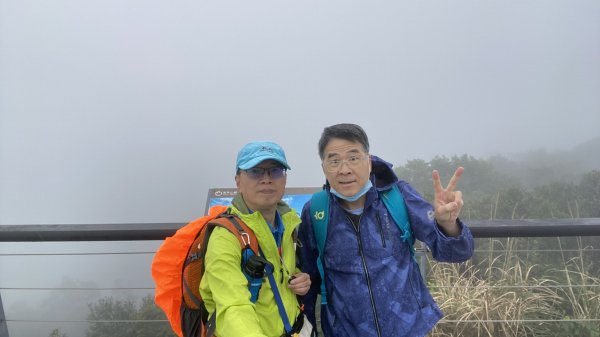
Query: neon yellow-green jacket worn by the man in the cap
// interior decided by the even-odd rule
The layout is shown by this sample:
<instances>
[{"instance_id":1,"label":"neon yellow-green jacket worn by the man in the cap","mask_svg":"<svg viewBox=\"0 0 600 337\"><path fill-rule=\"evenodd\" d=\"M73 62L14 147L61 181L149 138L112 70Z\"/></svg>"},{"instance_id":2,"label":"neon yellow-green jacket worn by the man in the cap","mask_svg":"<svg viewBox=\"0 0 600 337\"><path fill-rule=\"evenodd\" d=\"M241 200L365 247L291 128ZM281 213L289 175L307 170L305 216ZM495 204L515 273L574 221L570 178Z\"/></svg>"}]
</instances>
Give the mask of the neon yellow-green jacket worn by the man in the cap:
<instances>
[{"instance_id":1,"label":"neon yellow-green jacket worn by the man in the cap","mask_svg":"<svg viewBox=\"0 0 600 337\"><path fill-rule=\"evenodd\" d=\"M288 288L288 280L297 272L293 233L300 224L300 217L284 202L277 205L277 211L284 226L281 258L275 238L260 212L250 213L240 194L230 206L230 212L254 231L264 257L275 267L273 276L289 322L293 325L300 308L296 295ZM215 307L217 309L215 335L279 337L284 333L284 327L269 281L267 278L263 280L258 300L252 303L248 280L241 270L241 255L238 239L224 228L215 228L208 243L204 276L200 282L200 294L206 309L211 314Z\"/></svg>"}]
</instances>

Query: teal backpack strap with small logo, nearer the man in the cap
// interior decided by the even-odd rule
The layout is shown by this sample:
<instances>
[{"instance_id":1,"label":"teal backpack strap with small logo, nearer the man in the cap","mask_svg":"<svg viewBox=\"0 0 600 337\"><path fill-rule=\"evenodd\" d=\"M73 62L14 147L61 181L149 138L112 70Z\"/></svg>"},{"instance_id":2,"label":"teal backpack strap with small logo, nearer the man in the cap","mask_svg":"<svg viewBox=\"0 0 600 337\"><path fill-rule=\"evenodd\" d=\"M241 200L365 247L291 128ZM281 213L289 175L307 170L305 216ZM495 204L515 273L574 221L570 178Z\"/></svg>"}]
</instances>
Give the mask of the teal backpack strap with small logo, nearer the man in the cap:
<instances>
[{"instance_id":1,"label":"teal backpack strap with small logo, nearer the man in the cap","mask_svg":"<svg viewBox=\"0 0 600 337\"><path fill-rule=\"evenodd\" d=\"M312 195L310 199L310 218L315 234L315 241L319 250L317 268L321 275L321 304L327 304L327 290L325 289L325 272L323 270L323 251L327 239L327 225L329 224L329 196L326 190L321 190Z\"/></svg>"}]
</instances>

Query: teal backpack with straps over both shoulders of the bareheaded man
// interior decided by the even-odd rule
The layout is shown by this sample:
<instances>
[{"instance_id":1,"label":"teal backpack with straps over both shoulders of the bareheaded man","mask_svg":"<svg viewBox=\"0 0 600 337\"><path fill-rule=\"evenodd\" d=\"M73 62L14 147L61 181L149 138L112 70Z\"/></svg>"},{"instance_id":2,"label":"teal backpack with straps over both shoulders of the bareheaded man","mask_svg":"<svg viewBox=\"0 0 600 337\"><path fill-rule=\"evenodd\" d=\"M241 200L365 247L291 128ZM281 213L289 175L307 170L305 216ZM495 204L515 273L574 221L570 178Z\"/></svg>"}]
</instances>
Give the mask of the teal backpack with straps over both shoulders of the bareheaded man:
<instances>
[{"instance_id":1,"label":"teal backpack with straps over both shoulders of the bareheaded man","mask_svg":"<svg viewBox=\"0 0 600 337\"><path fill-rule=\"evenodd\" d=\"M385 204L388 212L392 216L394 223L402 233L402 241L408 243L410 247L410 255L414 258L415 255L415 238L413 237L406 212L406 204L402 193L398 189L398 185L394 184L391 189L379 194L381 200ZM319 191L312 195L310 199L310 214L319 250L319 259L317 259L317 267L321 274L321 304L327 304L327 291L325 290L325 277L323 270L323 251L325 250L325 240L327 239L327 225L329 224L329 196L326 190Z\"/></svg>"}]
</instances>

